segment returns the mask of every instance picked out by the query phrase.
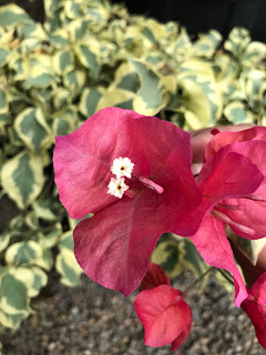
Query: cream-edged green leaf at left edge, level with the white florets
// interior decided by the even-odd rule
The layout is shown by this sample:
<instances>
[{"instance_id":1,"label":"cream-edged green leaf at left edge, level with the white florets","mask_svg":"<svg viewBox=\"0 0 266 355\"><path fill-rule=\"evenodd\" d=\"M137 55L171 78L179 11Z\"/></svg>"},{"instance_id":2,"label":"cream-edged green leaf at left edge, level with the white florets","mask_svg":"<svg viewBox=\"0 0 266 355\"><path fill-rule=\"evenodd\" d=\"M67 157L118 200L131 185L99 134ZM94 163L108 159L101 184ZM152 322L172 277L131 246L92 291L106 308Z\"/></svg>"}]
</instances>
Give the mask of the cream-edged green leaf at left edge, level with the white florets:
<instances>
[{"instance_id":1,"label":"cream-edged green leaf at left edge, level with the white florets","mask_svg":"<svg viewBox=\"0 0 266 355\"><path fill-rule=\"evenodd\" d=\"M6 162L1 170L2 187L22 210L40 194L44 184L40 156L23 151Z\"/></svg>"}]
</instances>

